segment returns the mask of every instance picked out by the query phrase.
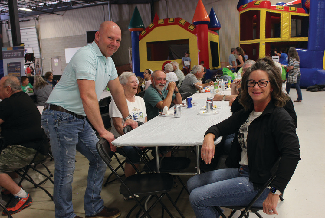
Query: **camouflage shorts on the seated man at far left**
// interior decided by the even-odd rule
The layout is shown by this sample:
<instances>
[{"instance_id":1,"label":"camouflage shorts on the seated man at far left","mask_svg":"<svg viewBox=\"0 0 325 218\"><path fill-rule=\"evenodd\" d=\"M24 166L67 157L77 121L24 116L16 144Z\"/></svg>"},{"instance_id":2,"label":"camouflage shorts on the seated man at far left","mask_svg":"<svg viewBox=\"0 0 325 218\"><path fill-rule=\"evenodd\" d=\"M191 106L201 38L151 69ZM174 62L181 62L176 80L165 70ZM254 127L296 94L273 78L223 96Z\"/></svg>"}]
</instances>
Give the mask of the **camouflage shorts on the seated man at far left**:
<instances>
[{"instance_id":1,"label":"camouflage shorts on the seated man at far left","mask_svg":"<svg viewBox=\"0 0 325 218\"><path fill-rule=\"evenodd\" d=\"M21 145L9 145L1 151L0 173L13 172L28 165L34 158L36 150ZM44 160L43 154L38 154L35 160Z\"/></svg>"}]
</instances>

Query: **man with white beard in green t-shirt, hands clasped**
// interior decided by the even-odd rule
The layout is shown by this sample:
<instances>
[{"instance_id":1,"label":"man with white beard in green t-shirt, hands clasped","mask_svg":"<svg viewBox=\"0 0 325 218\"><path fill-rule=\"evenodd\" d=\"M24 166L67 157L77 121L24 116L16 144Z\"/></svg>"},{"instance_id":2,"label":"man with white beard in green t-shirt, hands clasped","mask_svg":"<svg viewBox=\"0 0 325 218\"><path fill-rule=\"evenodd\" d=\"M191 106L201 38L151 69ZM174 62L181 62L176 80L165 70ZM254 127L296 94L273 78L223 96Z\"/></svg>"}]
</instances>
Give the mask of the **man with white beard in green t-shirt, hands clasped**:
<instances>
[{"instance_id":1,"label":"man with white beard in green t-shirt, hands clasped","mask_svg":"<svg viewBox=\"0 0 325 218\"><path fill-rule=\"evenodd\" d=\"M154 71L151 75L151 84L143 96L146 104L148 121L162 112L163 108L170 104L182 104L182 96L178 92L175 82L166 85L166 74L163 71Z\"/></svg>"}]
</instances>

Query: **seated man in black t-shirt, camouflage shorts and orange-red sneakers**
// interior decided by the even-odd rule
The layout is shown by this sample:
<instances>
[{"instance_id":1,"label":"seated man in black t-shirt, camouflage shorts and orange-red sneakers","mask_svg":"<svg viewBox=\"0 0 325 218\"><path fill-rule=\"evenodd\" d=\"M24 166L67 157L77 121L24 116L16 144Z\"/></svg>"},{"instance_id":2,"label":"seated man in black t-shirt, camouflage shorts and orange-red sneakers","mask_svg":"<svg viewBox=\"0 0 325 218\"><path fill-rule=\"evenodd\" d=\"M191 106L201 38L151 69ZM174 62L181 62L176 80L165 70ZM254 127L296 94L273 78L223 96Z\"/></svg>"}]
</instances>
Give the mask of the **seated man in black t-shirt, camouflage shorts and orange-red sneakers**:
<instances>
[{"instance_id":1,"label":"seated man in black t-shirt, camouflage shorts and orange-red sneakers","mask_svg":"<svg viewBox=\"0 0 325 218\"><path fill-rule=\"evenodd\" d=\"M44 160L47 153L43 144L41 114L30 96L21 90L17 77L5 76L0 80L1 136L5 138L0 155L0 186L3 195L13 195L7 210L17 213L32 202L32 197L19 187L18 175L13 171L28 165L40 148L35 160Z\"/></svg>"}]
</instances>

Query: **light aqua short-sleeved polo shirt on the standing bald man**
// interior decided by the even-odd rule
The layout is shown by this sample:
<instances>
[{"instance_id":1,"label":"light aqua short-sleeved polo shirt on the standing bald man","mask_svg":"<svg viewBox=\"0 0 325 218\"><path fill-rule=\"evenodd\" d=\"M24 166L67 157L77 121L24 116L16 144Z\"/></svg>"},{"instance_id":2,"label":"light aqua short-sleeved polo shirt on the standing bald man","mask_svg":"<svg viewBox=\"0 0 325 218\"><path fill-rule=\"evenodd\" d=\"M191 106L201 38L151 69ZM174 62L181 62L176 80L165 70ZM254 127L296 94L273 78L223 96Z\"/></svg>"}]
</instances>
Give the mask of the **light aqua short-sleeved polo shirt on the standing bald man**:
<instances>
[{"instance_id":1,"label":"light aqua short-sleeved polo shirt on the standing bald man","mask_svg":"<svg viewBox=\"0 0 325 218\"><path fill-rule=\"evenodd\" d=\"M91 45L80 48L73 55L46 103L58 105L85 116L77 79L94 80L96 95L99 100L108 81L116 78L117 71L114 61L111 57L103 56L94 41Z\"/></svg>"}]
</instances>

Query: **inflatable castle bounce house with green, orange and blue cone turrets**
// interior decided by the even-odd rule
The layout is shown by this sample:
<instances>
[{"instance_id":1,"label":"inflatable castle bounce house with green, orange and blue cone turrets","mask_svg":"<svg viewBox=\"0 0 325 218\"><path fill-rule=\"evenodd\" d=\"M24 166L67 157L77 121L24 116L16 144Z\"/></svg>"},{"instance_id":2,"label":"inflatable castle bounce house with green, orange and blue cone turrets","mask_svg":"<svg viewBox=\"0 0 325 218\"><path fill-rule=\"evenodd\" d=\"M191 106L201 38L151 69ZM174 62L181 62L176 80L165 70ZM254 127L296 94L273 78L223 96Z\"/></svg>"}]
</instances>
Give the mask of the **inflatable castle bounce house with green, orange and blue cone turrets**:
<instances>
[{"instance_id":1,"label":"inflatable castle bounce house with green, orange and blue cone turrets","mask_svg":"<svg viewBox=\"0 0 325 218\"><path fill-rule=\"evenodd\" d=\"M182 57L190 52L191 67L204 61L207 69L220 68L220 22L211 8L208 16L201 0L198 1L193 24L182 18L159 19L144 28L137 7L129 23L132 38L132 71L142 76L145 69L162 69L166 61L177 61L182 69ZM209 78L209 70L206 78Z\"/></svg>"}]
</instances>

